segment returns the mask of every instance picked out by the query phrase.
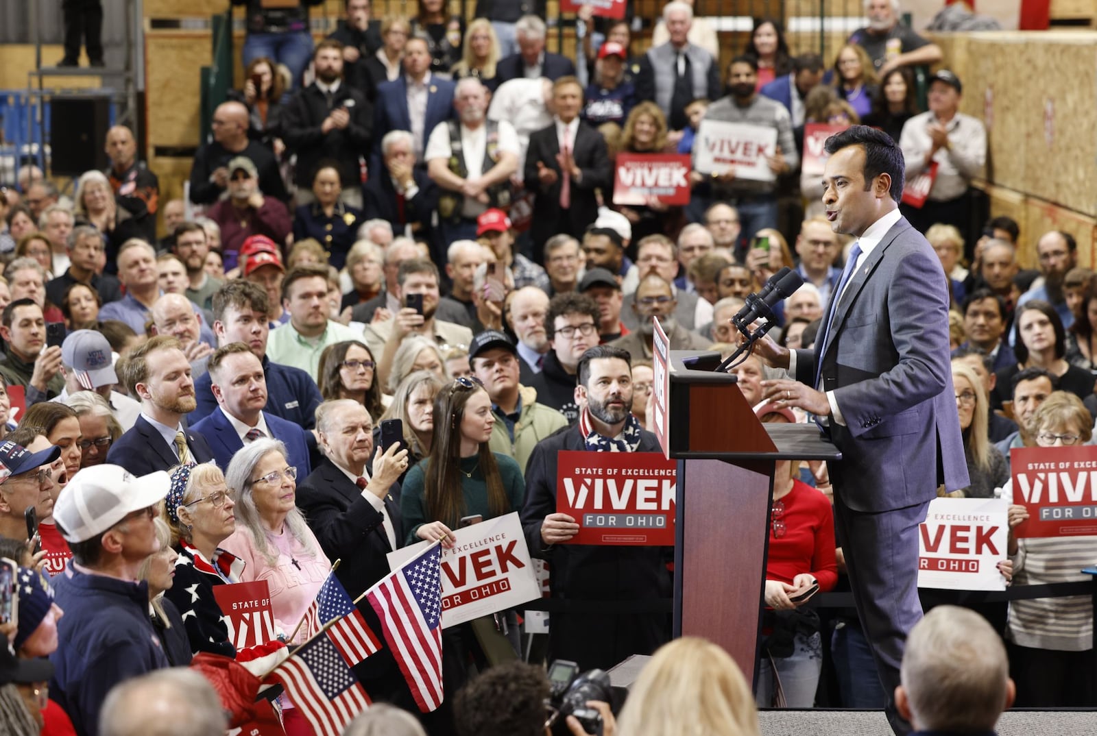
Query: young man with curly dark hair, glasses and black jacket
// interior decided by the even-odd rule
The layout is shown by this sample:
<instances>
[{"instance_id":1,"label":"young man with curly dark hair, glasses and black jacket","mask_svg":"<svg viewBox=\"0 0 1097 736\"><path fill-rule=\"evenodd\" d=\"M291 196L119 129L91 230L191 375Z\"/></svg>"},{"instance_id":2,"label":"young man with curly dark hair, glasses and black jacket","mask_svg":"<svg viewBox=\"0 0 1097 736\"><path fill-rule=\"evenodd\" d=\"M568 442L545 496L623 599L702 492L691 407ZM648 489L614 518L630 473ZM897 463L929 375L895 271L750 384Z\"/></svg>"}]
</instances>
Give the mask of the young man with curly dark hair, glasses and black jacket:
<instances>
[{"instance_id":1,"label":"young man with curly dark hair, glasses and black jacket","mask_svg":"<svg viewBox=\"0 0 1097 736\"><path fill-rule=\"evenodd\" d=\"M567 292L548 302L545 335L551 350L530 386L538 392L539 401L562 412L568 423L579 418L579 405L575 401L576 370L583 353L598 344L600 319L601 310L589 296Z\"/></svg>"}]
</instances>

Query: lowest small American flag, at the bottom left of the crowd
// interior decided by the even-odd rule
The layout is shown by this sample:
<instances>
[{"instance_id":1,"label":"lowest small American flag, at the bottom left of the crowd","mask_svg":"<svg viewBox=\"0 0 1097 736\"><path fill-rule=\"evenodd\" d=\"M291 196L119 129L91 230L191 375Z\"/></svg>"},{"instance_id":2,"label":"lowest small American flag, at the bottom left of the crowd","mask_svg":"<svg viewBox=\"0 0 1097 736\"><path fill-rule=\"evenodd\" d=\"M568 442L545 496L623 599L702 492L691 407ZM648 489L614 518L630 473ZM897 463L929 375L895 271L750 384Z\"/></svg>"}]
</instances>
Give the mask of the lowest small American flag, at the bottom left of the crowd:
<instances>
[{"instance_id":1,"label":"lowest small American flag, at the bottom left of the crowd","mask_svg":"<svg viewBox=\"0 0 1097 736\"><path fill-rule=\"evenodd\" d=\"M271 675L313 726L316 736L339 736L370 697L326 636L317 636Z\"/></svg>"}]
</instances>

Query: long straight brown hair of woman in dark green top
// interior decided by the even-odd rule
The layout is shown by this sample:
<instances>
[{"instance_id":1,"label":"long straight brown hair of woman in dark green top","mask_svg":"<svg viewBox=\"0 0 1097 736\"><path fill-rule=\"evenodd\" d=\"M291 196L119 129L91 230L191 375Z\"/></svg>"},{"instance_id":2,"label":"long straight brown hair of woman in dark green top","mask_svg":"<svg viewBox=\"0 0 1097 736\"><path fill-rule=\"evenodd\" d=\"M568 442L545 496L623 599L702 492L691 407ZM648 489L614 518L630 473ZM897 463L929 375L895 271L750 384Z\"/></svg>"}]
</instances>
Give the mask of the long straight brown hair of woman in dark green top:
<instances>
[{"instance_id":1,"label":"long straight brown hair of woman in dark green top","mask_svg":"<svg viewBox=\"0 0 1097 736\"><path fill-rule=\"evenodd\" d=\"M451 381L434 396L434 437L423 466L423 502L428 520L441 521L451 529L456 529L466 511L461 484L464 475L461 471L461 422L468 399L477 392L486 393L486 389L478 382L465 378ZM510 499L488 442L479 445L479 469L487 482L487 505L491 514L507 513L511 510Z\"/></svg>"}]
</instances>

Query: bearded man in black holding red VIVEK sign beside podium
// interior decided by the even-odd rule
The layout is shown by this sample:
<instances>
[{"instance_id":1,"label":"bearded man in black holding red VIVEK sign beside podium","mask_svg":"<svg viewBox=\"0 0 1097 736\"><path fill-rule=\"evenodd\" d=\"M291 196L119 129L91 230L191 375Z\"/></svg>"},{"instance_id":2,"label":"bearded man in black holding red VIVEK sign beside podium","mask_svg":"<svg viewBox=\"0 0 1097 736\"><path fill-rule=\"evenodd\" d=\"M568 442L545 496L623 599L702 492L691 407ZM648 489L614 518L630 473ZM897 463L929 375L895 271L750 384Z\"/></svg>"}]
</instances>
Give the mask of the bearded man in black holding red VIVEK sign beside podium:
<instances>
[{"instance_id":1,"label":"bearded man in black holding red VIVEK sign beside podium","mask_svg":"<svg viewBox=\"0 0 1097 736\"><path fill-rule=\"evenodd\" d=\"M579 421L540 442L525 467L522 529L530 554L548 561L552 597L564 600L658 599L670 596L668 548L563 544L579 531L556 511L557 453L659 452L658 440L632 416L629 353L596 346L579 360ZM665 613L553 613L548 658L579 669L609 669L633 654L651 654L670 638Z\"/></svg>"}]
</instances>

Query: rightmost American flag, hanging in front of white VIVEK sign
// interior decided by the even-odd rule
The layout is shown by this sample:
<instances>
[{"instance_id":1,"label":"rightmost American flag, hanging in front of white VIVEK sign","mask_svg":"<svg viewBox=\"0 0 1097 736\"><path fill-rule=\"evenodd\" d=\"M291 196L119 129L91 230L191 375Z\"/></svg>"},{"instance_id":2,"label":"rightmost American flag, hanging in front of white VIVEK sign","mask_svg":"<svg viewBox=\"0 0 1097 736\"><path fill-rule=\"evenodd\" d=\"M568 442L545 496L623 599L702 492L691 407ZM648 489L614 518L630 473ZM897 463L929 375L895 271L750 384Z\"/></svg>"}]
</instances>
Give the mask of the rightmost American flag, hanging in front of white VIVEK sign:
<instances>
[{"instance_id":1,"label":"rightmost American flag, hanging in front of white VIVEK sign","mask_svg":"<svg viewBox=\"0 0 1097 736\"><path fill-rule=\"evenodd\" d=\"M442 550L432 544L366 593L419 710L442 702Z\"/></svg>"}]
</instances>

